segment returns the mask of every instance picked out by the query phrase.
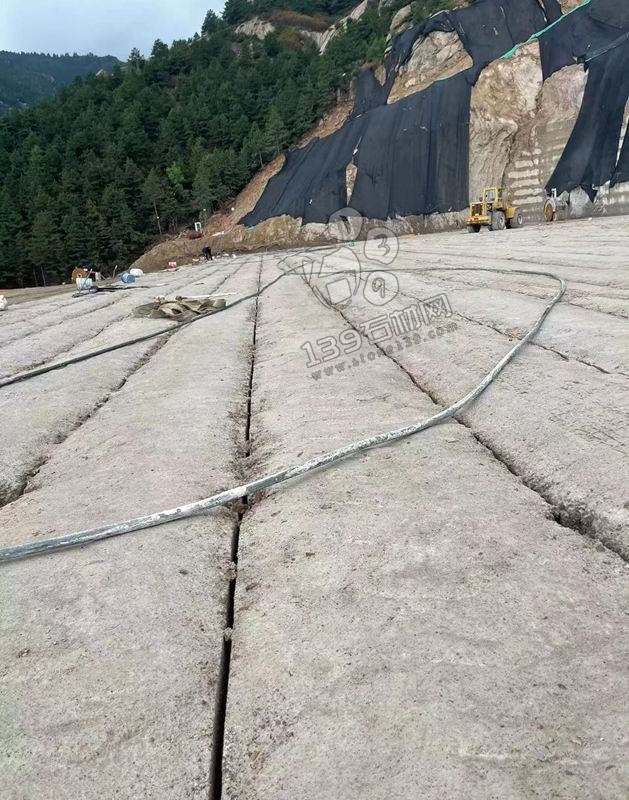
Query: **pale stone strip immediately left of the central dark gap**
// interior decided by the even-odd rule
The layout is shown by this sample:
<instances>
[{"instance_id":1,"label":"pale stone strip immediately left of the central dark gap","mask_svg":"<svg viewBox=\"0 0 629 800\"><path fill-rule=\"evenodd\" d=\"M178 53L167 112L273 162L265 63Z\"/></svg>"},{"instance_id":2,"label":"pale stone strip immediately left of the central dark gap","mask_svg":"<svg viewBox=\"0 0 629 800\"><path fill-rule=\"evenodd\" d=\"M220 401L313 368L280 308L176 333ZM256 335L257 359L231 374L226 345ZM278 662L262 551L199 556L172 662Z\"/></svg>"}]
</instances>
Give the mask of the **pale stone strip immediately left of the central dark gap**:
<instances>
[{"instance_id":1,"label":"pale stone strip immediately left of the central dark gap","mask_svg":"<svg viewBox=\"0 0 629 800\"><path fill-rule=\"evenodd\" d=\"M256 285L252 269L226 288ZM130 377L0 511L2 545L233 484L250 311L182 330ZM74 379L77 391L91 375ZM59 398L41 388L50 413ZM207 798L235 523L225 510L2 565L3 800Z\"/></svg>"}]
</instances>

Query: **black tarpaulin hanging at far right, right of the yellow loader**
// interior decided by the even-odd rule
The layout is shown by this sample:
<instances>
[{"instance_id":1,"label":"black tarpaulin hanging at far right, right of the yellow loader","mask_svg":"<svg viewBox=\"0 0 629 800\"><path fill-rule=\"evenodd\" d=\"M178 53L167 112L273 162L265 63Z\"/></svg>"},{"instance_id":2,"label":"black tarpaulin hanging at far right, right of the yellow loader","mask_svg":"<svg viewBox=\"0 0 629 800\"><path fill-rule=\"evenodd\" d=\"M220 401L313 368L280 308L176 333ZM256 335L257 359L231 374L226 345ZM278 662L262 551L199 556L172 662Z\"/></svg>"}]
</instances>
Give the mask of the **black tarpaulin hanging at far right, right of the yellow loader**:
<instances>
[{"instance_id":1,"label":"black tarpaulin hanging at far right, right of the yellow loader","mask_svg":"<svg viewBox=\"0 0 629 800\"><path fill-rule=\"evenodd\" d=\"M629 97L629 41L589 62L581 110L546 190L583 188L591 199L596 187L616 173L625 105ZM624 148L623 148L624 149Z\"/></svg>"}]
</instances>

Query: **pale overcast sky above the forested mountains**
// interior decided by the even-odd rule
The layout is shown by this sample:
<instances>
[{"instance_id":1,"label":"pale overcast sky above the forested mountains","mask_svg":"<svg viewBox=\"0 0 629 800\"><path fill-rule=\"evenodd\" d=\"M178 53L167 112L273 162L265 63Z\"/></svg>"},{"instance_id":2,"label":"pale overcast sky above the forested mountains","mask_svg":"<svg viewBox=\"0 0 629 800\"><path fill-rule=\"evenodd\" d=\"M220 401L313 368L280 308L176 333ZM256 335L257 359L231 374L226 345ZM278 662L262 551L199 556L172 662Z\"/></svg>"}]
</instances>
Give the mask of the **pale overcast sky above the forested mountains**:
<instances>
[{"instance_id":1,"label":"pale overcast sky above the forested mountains","mask_svg":"<svg viewBox=\"0 0 629 800\"><path fill-rule=\"evenodd\" d=\"M224 0L0 0L0 50L148 55L155 39L186 39Z\"/></svg>"}]
</instances>

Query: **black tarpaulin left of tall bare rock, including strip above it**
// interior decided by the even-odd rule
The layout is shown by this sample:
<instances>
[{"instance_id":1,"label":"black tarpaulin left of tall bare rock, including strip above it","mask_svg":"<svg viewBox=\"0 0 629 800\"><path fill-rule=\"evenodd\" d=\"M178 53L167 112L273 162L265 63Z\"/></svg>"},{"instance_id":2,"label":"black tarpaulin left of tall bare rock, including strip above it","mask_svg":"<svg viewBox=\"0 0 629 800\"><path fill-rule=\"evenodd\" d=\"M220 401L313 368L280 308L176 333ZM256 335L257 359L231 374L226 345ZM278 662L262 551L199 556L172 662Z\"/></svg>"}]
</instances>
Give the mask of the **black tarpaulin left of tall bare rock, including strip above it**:
<instances>
[{"instance_id":1,"label":"black tarpaulin left of tall bare rock, including strip above it","mask_svg":"<svg viewBox=\"0 0 629 800\"><path fill-rule=\"evenodd\" d=\"M284 168L241 222L257 225L288 214L325 222L351 205L387 219L464 208L468 202L469 108L478 72L559 15L557 0L478 0L443 12L398 36L386 57L386 78L361 73L352 119L325 139L289 154ZM474 68L387 105L414 44L431 32L456 32ZM351 198L347 167L356 168Z\"/></svg>"}]
</instances>

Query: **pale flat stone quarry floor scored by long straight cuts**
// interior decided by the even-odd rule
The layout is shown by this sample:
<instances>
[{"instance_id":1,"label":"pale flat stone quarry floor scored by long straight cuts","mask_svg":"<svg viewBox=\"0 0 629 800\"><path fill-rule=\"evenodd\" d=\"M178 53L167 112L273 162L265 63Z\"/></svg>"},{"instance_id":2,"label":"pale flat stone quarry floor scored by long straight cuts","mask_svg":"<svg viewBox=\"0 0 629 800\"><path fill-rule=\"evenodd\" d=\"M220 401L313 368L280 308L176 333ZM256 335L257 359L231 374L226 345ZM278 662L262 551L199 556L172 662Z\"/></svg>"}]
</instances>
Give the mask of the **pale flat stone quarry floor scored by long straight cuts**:
<instances>
[{"instance_id":1,"label":"pale flat stone quarry floor scored by long straight cuts","mask_svg":"<svg viewBox=\"0 0 629 800\"><path fill-rule=\"evenodd\" d=\"M479 268L567 282L456 421L238 506L0 564L1 800L624 800L628 242L622 217L348 242L0 314L6 376L158 330L132 313L158 295L229 303L287 265L310 276L0 388L7 546L428 417L556 291ZM396 333L426 300L433 316Z\"/></svg>"}]
</instances>

